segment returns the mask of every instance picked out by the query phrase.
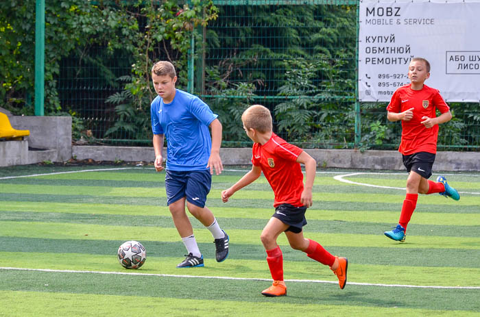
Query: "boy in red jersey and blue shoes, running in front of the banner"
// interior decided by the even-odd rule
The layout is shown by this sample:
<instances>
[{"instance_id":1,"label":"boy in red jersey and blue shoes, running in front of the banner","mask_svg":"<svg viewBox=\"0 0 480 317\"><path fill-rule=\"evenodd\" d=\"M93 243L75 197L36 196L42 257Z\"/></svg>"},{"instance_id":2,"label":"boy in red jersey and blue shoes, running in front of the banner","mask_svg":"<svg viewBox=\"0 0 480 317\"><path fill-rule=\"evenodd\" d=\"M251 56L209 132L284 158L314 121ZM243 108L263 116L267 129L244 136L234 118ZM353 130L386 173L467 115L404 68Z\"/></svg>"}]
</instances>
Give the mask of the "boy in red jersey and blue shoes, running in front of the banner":
<instances>
[{"instance_id":1,"label":"boy in red jersey and blue shoes, running in front of the banner","mask_svg":"<svg viewBox=\"0 0 480 317\"><path fill-rule=\"evenodd\" d=\"M404 242L407 225L415 210L418 193L440 193L455 201L460 196L446 178L437 177L429 181L432 166L437 153L438 125L452 118L450 107L445 103L440 92L424 85L430 77L430 63L424 58L412 58L408 77L411 84L398 88L387 106L389 121L402 121L402 140L398 151L403 155L403 165L407 168L407 196L403 201L398 225L392 231L385 231L385 236L392 240ZM442 114L436 115L435 110Z\"/></svg>"}]
</instances>

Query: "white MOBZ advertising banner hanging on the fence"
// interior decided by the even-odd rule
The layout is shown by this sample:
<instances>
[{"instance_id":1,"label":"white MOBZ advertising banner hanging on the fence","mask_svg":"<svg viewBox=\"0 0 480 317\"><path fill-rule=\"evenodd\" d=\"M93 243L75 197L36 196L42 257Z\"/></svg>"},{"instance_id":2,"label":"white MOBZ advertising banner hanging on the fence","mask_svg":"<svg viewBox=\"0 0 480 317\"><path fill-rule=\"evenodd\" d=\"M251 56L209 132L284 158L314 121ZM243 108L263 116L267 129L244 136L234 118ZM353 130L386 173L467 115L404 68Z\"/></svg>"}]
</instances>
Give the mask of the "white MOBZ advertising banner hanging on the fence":
<instances>
[{"instance_id":1,"label":"white MOBZ advertising banner hanging on the fence","mask_svg":"<svg viewBox=\"0 0 480 317\"><path fill-rule=\"evenodd\" d=\"M446 101L480 102L480 0L361 0L359 99L390 101L413 57Z\"/></svg>"}]
</instances>

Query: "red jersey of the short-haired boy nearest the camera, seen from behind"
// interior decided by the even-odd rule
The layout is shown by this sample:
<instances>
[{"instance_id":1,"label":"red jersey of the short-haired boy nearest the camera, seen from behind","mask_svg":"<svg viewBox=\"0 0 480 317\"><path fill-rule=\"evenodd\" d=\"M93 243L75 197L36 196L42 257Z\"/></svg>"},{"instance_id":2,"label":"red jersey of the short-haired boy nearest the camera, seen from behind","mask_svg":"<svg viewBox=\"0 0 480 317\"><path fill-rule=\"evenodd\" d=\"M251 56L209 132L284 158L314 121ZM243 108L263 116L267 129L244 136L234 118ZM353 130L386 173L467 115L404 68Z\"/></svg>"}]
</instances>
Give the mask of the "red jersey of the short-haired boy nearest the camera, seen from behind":
<instances>
[{"instance_id":1,"label":"red jersey of the short-haired boy nearest the camera, seen from behind","mask_svg":"<svg viewBox=\"0 0 480 317\"><path fill-rule=\"evenodd\" d=\"M287 143L276 134L265 144L254 143L252 164L262 169L263 175L274 190L274 207L289 203L301 207L303 174L297 158L303 150Z\"/></svg>"}]
</instances>

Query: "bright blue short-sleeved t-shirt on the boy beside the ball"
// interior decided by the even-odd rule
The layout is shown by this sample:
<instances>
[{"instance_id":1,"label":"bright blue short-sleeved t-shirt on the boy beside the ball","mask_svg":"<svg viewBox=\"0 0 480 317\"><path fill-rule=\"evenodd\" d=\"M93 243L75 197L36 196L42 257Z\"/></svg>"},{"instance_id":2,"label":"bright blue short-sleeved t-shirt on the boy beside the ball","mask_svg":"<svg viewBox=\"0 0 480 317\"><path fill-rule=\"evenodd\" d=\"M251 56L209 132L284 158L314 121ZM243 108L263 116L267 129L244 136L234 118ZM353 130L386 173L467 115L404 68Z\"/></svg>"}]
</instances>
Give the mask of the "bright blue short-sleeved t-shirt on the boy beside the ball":
<instances>
[{"instance_id":1,"label":"bright blue short-sleeved t-shirt on the boy beside the ball","mask_svg":"<svg viewBox=\"0 0 480 317\"><path fill-rule=\"evenodd\" d=\"M212 148L208 125L217 118L200 98L176 89L171 103L157 96L150 107L152 131L167 138L167 170L204 170Z\"/></svg>"}]
</instances>

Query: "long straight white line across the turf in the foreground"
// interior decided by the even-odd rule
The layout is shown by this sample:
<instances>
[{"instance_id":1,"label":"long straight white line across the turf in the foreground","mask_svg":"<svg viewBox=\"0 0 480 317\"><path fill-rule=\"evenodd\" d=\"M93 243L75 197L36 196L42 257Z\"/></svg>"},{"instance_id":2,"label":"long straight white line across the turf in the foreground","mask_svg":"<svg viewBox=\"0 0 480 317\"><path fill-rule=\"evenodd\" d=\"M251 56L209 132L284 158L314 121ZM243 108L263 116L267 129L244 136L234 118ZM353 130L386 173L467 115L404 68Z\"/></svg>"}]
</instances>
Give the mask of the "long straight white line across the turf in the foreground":
<instances>
[{"instance_id":1,"label":"long straight white line across the turf in the foreground","mask_svg":"<svg viewBox=\"0 0 480 317\"><path fill-rule=\"evenodd\" d=\"M55 272L55 273L84 273L84 274L104 274L104 275L135 275L135 276L149 276L149 277L178 277L185 279L229 279L239 281L272 281L272 279L252 279L245 277L214 277L214 276L199 276L199 275L173 275L173 274L152 274L152 273L137 273L137 272L104 272L91 270L51 270L48 268L10 268L0 267L0 270L25 270L37 272ZM331 283L337 284L338 281L322 281L318 279L285 279L286 282L293 283ZM422 286L422 285L408 285L408 284L382 284L382 283L355 283L348 282L348 285L357 286L379 286L387 288L435 288L447 290L480 290L480 286Z\"/></svg>"}]
</instances>

